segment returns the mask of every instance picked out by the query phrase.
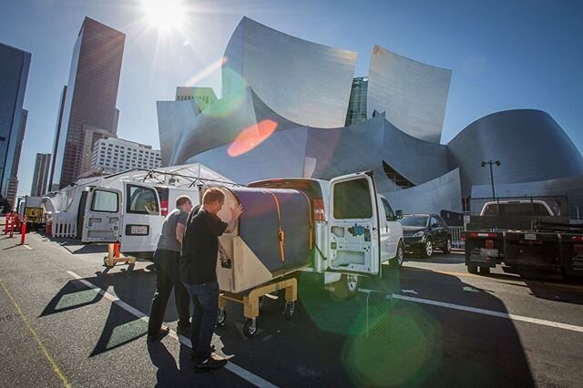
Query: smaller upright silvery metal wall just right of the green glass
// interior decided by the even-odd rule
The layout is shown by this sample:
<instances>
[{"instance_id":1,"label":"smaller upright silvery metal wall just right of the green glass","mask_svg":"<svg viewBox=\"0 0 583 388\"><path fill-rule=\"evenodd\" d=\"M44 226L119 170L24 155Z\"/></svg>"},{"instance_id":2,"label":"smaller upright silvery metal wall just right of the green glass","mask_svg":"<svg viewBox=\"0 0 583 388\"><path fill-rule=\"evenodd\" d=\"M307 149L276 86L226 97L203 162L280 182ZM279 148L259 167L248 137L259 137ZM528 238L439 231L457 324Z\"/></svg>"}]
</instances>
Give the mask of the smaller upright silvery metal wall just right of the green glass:
<instances>
[{"instance_id":1,"label":"smaller upright silvery metal wall just right of the green glass","mask_svg":"<svg viewBox=\"0 0 583 388\"><path fill-rule=\"evenodd\" d=\"M386 112L396 128L439 143L452 71L425 65L375 45L368 75L367 116Z\"/></svg>"}]
</instances>

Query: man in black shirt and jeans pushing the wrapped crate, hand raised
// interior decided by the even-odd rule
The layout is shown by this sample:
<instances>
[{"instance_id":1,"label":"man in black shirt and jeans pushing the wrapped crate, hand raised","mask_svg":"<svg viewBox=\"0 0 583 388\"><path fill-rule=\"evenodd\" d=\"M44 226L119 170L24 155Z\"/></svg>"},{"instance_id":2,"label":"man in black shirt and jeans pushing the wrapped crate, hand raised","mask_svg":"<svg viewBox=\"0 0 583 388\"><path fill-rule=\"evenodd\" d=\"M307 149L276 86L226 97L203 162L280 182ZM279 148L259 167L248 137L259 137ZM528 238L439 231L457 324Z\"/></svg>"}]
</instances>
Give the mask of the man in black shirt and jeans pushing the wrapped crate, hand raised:
<instances>
[{"instance_id":1,"label":"man in black shirt and jeans pushing the wrapped crate, hand raised","mask_svg":"<svg viewBox=\"0 0 583 388\"><path fill-rule=\"evenodd\" d=\"M196 371L220 368L227 363L213 354L210 348L212 333L219 313L219 283L217 282L218 237L234 230L235 222L243 209L240 205L230 209L229 223L220 220L217 213L225 201L221 189L210 188L202 197L202 209L191 211L184 234L180 277L194 303L192 357Z\"/></svg>"}]
</instances>

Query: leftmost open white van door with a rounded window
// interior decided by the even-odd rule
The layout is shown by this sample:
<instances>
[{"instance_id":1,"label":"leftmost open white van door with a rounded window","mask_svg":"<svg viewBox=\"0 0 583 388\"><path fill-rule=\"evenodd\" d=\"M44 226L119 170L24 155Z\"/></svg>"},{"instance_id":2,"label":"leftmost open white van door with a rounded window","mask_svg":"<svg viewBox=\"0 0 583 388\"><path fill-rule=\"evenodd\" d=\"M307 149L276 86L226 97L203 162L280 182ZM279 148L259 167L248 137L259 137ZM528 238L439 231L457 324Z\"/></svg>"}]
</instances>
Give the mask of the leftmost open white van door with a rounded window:
<instances>
[{"instance_id":1,"label":"leftmost open white van door with a rounded window","mask_svg":"<svg viewBox=\"0 0 583 388\"><path fill-rule=\"evenodd\" d=\"M81 242L116 242L121 226L121 192L92 188L87 193Z\"/></svg>"}]
</instances>

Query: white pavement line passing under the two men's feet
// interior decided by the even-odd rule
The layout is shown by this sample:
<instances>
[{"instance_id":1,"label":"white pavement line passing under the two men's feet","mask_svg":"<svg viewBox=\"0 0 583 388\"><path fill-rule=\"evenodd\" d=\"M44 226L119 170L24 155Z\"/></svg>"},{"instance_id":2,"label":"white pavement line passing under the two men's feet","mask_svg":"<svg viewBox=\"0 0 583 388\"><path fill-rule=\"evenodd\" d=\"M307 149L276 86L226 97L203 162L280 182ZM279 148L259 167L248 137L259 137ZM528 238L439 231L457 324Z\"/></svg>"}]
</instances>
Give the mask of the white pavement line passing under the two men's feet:
<instances>
[{"instance_id":1,"label":"white pavement line passing under the two men's feet","mask_svg":"<svg viewBox=\"0 0 583 388\"><path fill-rule=\"evenodd\" d=\"M125 301L121 301L118 297L110 294L109 292L102 290L101 288L99 288L95 284L93 284L92 282L86 281L81 276L77 275L77 273L75 273L73 271L66 271L66 273L70 277L75 279L76 281L81 282L88 289L96 291L97 293L102 295L104 298L107 299L107 301L111 301L112 303L117 304L118 307L121 307L125 311L128 311L129 313L135 315L136 317L138 317L140 320L142 320L144 322L149 321L148 315L146 315L142 311L139 311L138 309L130 306ZM188 346L190 349L192 349L192 344L190 343L190 341L186 338L179 338L179 335L175 331L170 329L169 336L174 338L176 341L184 344L185 346ZM182 336L180 336L180 337L182 337ZM246 369L243 369L239 365L234 364L232 362L227 362L227 365L225 365L225 369L229 370L231 373L237 374L240 378L247 380L249 383L257 385L258 387L266 387L266 388L277 387L277 385L274 385L274 384L268 382L267 380L262 379L260 376L254 374L254 373L251 373L251 372L247 371Z\"/></svg>"}]
</instances>

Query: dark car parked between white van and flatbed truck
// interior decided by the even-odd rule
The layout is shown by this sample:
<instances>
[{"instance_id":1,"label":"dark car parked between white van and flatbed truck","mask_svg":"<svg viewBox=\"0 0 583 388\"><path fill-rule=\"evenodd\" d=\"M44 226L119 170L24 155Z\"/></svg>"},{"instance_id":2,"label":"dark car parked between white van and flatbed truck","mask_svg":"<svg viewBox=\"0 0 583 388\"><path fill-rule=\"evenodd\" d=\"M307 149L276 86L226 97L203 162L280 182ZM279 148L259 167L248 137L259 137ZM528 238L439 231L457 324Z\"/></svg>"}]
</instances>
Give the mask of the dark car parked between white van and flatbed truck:
<instances>
[{"instance_id":1,"label":"dark car parked between white van and flatbed truck","mask_svg":"<svg viewBox=\"0 0 583 388\"><path fill-rule=\"evenodd\" d=\"M405 214L399 220L403 225L405 252L421 253L431 257L435 248L444 253L452 250L452 230L436 214Z\"/></svg>"}]
</instances>

